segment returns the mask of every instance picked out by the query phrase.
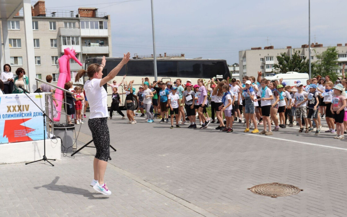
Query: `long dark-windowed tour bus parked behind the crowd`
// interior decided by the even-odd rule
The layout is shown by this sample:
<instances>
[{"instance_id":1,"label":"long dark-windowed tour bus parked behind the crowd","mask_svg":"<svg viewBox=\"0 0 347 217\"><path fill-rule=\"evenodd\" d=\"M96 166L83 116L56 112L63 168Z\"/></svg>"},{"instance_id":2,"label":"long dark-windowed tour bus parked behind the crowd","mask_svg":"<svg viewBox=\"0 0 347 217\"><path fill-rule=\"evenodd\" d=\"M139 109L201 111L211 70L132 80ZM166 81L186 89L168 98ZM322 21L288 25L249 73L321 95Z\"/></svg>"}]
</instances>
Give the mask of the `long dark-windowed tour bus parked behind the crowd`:
<instances>
[{"instance_id":1,"label":"long dark-windowed tour bus parked behind the crowd","mask_svg":"<svg viewBox=\"0 0 347 217\"><path fill-rule=\"evenodd\" d=\"M103 77L106 76L110 70L116 67L122 58L106 58L106 66L103 69ZM88 58L85 61L85 69L92 63L101 64L101 58ZM229 68L226 60L221 59L157 59L157 74L158 79L166 81L176 81L177 78L182 80L182 83L190 79L193 84L197 84L197 79L203 78L206 82L210 78L227 79L230 76ZM129 62L124 66L118 75L113 79L117 83L120 83L123 76L126 75L124 81L134 80L134 88L136 88L136 93L138 92L138 87L142 85L141 78L148 77L150 82L154 81L154 64L153 59L130 59ZM86 81L88 77L84 78ZM108 97L108 106L111 106L111 95L112 88L108 85L104 85ZM118 87L118 92L122 93L124 91L124 84ZM134 95L136 94L134 93ZM121 94L121 104L119 105L121 109L126 109L124 107L125 94ZM88 98L88 96L87 96ZM137 100L135 101L135 109L137 109Z\"/></svg>"}]
</instances>

